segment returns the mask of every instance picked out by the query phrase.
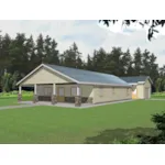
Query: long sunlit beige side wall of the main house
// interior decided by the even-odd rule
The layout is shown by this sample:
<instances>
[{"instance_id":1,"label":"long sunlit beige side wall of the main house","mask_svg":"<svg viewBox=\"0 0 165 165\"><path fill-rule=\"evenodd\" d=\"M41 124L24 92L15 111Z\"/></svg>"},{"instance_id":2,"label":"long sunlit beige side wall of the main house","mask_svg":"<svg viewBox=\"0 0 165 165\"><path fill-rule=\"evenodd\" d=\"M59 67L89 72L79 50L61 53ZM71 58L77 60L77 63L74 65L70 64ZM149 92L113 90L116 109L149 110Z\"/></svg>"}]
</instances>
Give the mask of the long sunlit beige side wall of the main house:
<instances>
[{"instance_id":1,"label":"long sunlit beige side wall of the main house","mask_svg":"<svg viewBox=\"0 0 165 165\"><path fill-rule=\"evenodd\" d=\"M132 99L132 88L95 87L94 103Z\"/></svg>"}]
</instances>

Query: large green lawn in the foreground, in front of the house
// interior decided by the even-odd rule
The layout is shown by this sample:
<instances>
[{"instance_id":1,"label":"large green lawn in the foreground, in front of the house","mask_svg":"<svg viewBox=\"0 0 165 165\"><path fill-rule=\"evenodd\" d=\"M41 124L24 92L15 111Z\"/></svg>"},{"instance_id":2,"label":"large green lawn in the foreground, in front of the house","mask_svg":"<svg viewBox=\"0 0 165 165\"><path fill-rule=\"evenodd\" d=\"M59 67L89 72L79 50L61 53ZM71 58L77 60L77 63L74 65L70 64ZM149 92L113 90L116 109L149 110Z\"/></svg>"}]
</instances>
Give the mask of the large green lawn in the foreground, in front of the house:
<instances>
[{"instance_id":1,"label":"large green lawn in the foreground, in front of the house","mask_svg":"<svg viewBox=\"0 0 165 165\"><path fill-rule=\"evenodd\" d=\"M0 111L0 143L111 143L153 133L165 101L138 100L89 109L33 107Z\"/></svg>"}]
</instances>

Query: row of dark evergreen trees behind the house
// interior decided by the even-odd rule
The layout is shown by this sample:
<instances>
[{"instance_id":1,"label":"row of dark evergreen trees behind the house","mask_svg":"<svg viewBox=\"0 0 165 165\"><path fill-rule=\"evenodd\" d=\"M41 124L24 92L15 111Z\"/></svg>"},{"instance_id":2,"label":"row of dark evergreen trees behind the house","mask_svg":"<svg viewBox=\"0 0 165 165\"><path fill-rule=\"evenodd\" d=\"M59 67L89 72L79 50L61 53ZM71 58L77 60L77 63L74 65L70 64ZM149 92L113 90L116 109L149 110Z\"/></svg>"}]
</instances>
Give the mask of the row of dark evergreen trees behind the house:
<instances>
[{"instance_id":1,"label":"row of dark evergreen trees behind the house","mask_svg":"<svg viewBox=\"0 0 165 165\"><path fill-rule=\"evenodd\" d=\"M40 34L34 37L18 33L0 35L0 91L16 89L15 82L41 63L48 63L80 69L88 69L116 76L150 76L153 91L165 90L165 66L158 67L156 55L148 50L103 47L85 55L74 42L62 53L55 38ZM86 58L85 58L86 56ZM84 57L84 58L82 58Z\"/></svg>"}]
</instances>

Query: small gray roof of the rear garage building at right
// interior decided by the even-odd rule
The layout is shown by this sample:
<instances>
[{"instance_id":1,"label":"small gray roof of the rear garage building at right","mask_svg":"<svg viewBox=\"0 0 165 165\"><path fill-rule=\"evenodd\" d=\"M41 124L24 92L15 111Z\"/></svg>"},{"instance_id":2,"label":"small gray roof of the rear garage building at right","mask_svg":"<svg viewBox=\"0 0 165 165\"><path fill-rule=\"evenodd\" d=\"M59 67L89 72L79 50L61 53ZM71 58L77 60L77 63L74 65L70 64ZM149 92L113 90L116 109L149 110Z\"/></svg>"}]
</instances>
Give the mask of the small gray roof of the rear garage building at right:
<instances>
[{"instance_id":1,"label":"small gray roof of the rear garage building at right","mask_svg":"<svg viewBox=\"0 0 165 165\"><path fill-rule=\"evenodd\" d=\"M131 76L131 77L120 77L128 84L138 84L139 81L145 81L148 76Z\"/></svg>"}]
</instances>

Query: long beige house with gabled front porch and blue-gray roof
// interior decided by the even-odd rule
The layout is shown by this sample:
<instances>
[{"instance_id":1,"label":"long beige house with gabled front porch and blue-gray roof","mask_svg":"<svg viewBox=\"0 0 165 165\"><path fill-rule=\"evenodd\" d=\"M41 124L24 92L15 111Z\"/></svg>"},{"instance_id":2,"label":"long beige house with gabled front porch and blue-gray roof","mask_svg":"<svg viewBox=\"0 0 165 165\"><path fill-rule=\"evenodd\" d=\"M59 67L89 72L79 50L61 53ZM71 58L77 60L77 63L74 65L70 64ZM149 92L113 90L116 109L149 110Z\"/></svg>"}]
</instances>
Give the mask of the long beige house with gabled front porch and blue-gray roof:
<instances>
[{"instance_id":1,"label":"long beige house with gabled front porch and blue-gray roof","mask_svg":"<svg viewBox=\"0 0 165 165\"><path fill-rule=\"evenodd\" d=\"M22 99L22 87L34 87L34 102L52 101L100 103L132 99L132 86L117 76L41 64L18 84L18 100Z\"/></svg>"}]
</instances>

